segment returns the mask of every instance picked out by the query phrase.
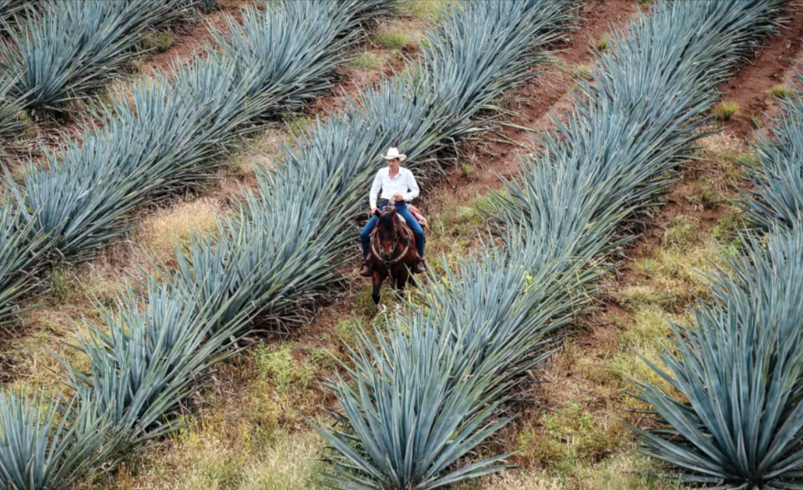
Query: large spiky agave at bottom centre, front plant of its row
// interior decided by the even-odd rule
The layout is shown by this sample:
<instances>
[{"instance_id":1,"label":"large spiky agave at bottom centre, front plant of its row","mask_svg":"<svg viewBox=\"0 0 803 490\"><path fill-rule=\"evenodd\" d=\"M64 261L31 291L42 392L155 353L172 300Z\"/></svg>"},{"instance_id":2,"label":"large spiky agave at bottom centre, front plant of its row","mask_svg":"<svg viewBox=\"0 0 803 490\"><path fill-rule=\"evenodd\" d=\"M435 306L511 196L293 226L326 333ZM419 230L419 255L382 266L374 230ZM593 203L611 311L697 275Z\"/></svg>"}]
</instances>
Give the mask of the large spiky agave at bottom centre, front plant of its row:
<instances>
[{"instance_id":1,"label":"large spiky agave at bottom centre, front plant of its row","mask_svg":"<svg viewBox=\"0 0 803 490\"><path fill-rule=\"evenodd\" d=\"M455 365L450 331L433 328L438 320L421 313L405 328L377 332L377 345L360 333L365 349L353 351L353 368L344 365L354 381L338 375L328 382L349 432L312 424L340 452L332 459L335 473L324 475L324 484L438 488L508 467L507 455L453 467L509 419L495 419L499 400L487 398L491 379L466 363Z\"/></svg>"}]
</instances>

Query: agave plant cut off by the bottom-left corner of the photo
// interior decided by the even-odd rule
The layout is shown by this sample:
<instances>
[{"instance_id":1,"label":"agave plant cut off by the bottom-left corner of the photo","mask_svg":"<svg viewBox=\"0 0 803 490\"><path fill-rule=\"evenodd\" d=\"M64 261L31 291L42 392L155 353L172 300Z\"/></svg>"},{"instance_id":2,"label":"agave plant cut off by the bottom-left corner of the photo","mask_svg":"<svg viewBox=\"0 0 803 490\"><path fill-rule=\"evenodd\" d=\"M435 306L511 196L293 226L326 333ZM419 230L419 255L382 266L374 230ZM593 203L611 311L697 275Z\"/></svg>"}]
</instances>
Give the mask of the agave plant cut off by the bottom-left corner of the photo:
<instances>
[{"instance_id":1,"label":"agave plant cut off by the bottom-left corner of the photo","mask_svg":"<svg viewBox=\"0 0 803 490\"><path fill-rule=\"evenodd\" d=\"M0 489L71 488L119 440L91 403L0 392Z\"/></svg>"}]
</instances>

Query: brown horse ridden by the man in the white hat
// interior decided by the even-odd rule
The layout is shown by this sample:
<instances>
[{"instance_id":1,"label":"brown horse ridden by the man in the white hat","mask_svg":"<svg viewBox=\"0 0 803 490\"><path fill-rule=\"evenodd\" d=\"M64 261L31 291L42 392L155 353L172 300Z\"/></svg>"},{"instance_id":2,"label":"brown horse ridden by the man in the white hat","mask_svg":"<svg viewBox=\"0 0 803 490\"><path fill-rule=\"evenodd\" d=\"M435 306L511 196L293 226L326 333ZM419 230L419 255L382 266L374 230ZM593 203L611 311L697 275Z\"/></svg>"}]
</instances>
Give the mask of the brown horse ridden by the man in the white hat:
<instances>
[{"instance_id":1,"label":"brown horse ridden by the man in the white hat","mask_svg":"<svg viewBox=\"0 0 803 490\"><path fill-rule=\"evenodd\" d=\"M415 237L396 214L396 206L385 206L376 210L374 214L379 218L377 227L371 237L369 261L373 270L373 303L377 310L382 309L379 291L387 276L395 281L397 295L404 290L407 281L415 285L410 270L418 260L415 251Z\"/></svg>"}]
</instances>

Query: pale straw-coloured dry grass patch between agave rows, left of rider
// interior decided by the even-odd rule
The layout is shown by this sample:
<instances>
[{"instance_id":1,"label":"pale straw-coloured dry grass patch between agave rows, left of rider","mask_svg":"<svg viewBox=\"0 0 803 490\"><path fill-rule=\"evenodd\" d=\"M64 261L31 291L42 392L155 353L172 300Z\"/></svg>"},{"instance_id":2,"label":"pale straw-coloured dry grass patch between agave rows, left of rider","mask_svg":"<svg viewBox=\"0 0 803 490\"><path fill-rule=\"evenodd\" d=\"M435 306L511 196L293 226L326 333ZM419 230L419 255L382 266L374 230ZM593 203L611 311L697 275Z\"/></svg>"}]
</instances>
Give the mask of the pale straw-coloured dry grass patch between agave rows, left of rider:
<instances>
[{"instance_id":1,"label":"pale straw-coloured dry grass patch between agave rows, left of rider","mask_svg":"<svg viewBox=\"0 0 803 490\"><path fill-rule=\"evenodd\" d=\"M220 205L208 198L178 202L145 218L137 241L154 258L169 262L176 245L186 245L194 231L208 232L214 227Z\"/></svg>"}]
</instances>

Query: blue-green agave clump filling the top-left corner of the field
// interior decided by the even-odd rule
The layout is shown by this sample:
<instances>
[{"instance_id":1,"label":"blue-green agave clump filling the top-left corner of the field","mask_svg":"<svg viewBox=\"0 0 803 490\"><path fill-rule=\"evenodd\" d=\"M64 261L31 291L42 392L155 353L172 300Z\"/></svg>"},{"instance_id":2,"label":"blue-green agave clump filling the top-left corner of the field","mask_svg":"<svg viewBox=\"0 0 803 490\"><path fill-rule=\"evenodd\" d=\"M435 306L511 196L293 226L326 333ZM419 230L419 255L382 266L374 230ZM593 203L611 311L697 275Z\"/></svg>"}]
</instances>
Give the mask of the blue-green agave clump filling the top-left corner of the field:
<instances>
[{"instance_id":1,"label":"blue-green agave clump filling the top-left corner of the field","mask_svg":"<svg viewBox=\"0 0 803 490\"><path fill-rule=\"evenodd\" d=\"M0 69L16 78L14 95L34 113L63 108L104 85L137 57L132 48L151 27L165 25L190 0L55 0L0 39Z\"/></svg>"}]
</instances>

